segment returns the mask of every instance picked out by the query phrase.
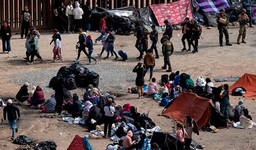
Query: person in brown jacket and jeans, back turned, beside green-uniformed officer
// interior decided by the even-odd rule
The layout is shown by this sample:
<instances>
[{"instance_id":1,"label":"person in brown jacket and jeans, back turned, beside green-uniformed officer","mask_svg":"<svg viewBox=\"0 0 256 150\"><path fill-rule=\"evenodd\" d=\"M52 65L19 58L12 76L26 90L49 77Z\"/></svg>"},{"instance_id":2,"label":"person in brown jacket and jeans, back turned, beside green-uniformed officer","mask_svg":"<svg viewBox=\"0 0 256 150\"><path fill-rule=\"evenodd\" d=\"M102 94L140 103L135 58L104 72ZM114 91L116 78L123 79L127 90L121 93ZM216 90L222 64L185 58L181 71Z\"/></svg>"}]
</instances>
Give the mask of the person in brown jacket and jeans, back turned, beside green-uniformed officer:
<instances>
[{"instance_id":1,"label":"person in brown jacket and jeans, back turned, beside green-uniformed officer","mask_svg":"<svg viewBox=\"0 0 256 150\"><path fill-rule=\"evenodd\" d=\"M146 67L145 74L147 73L148 69L150 69L150 78L148 81L151 81L151 79L153 77L154 67L156 65L155 56L152 54L152 51L153 51L152 49L148 49L147 54L144 57L144 64ZM144 76L145 76L145 74L144 74Z\"/></svg>"}]
</instances>

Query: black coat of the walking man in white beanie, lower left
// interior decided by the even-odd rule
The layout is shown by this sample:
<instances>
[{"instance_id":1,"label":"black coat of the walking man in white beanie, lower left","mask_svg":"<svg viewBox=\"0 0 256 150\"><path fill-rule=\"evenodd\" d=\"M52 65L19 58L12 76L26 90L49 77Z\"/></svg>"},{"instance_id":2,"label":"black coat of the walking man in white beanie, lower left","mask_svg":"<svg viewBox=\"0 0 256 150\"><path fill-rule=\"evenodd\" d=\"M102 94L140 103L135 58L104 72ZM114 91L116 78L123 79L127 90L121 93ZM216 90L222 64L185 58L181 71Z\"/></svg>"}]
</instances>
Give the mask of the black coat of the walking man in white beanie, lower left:
<instances>
[{"instance_id":1,"label":"black coat of the walking man in white beanie, lower left","mask_svg":"<svg viewBox=\"0 0 256 150\"><path fill-rule=\"evenodd\" d=\"M17 119L16 111L18 114L18 117L20 117L19 108L12 104L11 106L6 105L3 108L3 118L6 119L6 112L7 112L7 118L9 121L13 121Z\"/></svg>"}]
</instances>

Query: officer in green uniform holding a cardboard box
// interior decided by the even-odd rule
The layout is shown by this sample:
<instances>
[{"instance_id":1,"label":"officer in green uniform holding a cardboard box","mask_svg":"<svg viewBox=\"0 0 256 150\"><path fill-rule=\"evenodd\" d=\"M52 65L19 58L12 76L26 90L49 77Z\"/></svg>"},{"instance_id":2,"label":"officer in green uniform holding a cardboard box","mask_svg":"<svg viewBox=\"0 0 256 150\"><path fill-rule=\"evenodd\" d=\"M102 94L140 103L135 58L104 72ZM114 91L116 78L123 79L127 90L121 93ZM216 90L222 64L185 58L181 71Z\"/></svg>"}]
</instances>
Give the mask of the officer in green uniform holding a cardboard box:
<instances>
[{"instance_id":1,"label":"officer in green uniform holding a cardboard box","mask_svg":"<svg viewBox=\"0 0 256 150\"><path fill-rule=\"evenodd\" d=\"M229 35L228 35L228 23L225 15L225 9L221 9L221 13L217 16L218 30L219 30L219 46L223 46L223 33L226 39L226 45L232 46L229 43Z\"/></svg>"}]
</instances>

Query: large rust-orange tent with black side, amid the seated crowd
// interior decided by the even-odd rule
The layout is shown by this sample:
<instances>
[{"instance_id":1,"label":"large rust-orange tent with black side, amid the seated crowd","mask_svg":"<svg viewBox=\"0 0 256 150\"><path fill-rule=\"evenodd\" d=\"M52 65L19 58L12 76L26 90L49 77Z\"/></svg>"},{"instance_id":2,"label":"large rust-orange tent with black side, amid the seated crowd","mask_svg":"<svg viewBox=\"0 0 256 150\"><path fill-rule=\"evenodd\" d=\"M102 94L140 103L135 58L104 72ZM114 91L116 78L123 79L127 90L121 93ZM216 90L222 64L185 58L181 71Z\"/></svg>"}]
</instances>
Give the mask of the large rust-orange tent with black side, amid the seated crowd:
<instances>
[{"instance_id":1,"label":"large rust-orange tent with black side, amid the seated crowd","mask_svg":"<svg viewBox=\"0 0 256 150\"><path fill-rule=\"evenodd\" d=\"M197 122L199 129L209 121L211 125L216 127L226 126L225 116L213 106L212 101L197 96L195 93L183 92L170 103L162 115L177 119L180 123L183 123L187 115Z\"/></svg>"}]
</instances>

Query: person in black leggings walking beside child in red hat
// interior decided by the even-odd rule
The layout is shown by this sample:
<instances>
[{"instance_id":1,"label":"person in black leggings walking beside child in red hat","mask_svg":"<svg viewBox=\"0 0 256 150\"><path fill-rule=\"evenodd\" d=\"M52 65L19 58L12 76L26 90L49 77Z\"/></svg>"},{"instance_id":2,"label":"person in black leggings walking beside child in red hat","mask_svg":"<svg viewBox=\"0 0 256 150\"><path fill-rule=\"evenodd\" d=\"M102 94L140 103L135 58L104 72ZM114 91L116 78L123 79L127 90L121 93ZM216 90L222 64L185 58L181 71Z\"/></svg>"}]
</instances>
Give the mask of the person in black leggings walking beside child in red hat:
<instances>
[{"instance_id":1,"label":"person in black leggings walking beside child in red hat","mask_svg":"<svg viewBox=\"0 0 256 150\"><path fill-rule=\"evenodd\" d=\"M83 32L83 30L81 28L79 28L77 31L79 33L79 36L78 36L79 41L77 42L77 44L79 43L80 46L79 46L79 49L78 49L77 58L75 58L74 62L79 61L79 58L80 58L80 55L81 55L82 51L89 58L88 53L85 50L85 47L87 46L87 40L88 39L87 39L85 33Z\"/></svg>"}]
</instances>

